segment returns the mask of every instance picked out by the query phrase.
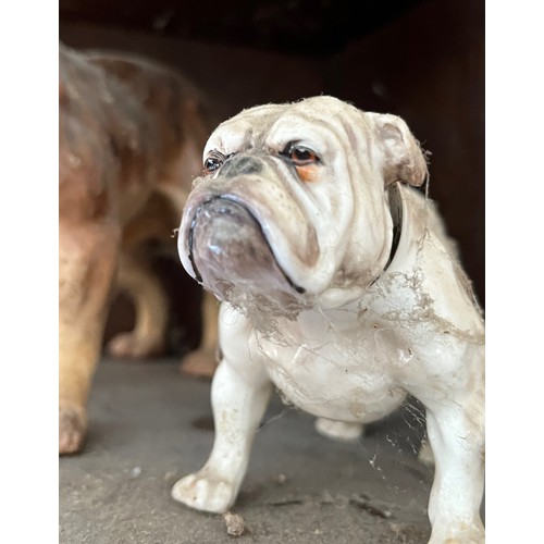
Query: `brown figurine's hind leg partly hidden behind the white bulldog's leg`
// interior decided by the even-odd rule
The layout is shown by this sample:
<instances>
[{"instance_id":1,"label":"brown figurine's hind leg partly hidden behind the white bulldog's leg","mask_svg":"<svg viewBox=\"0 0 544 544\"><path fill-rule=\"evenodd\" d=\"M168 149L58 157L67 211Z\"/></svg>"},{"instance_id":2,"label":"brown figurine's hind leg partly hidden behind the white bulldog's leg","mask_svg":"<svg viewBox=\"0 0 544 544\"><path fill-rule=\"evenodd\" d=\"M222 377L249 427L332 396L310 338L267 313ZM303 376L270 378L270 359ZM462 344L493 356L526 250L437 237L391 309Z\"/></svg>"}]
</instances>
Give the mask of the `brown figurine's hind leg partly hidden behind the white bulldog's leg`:
<instances>
[{"instance_id":1,"label":"brown figurine's hind leg partly hidden behind the white bulldog's leg","mask_svg":"<svg viewBox=\"0 0 544 544\"><path fill-rule=\"evenodd\" d=\"M218 367L218 299L208 293L202 294L202 339L198 349L182 359L180 370L196 376L212 376Z\"/></svg>"}]
</instances>

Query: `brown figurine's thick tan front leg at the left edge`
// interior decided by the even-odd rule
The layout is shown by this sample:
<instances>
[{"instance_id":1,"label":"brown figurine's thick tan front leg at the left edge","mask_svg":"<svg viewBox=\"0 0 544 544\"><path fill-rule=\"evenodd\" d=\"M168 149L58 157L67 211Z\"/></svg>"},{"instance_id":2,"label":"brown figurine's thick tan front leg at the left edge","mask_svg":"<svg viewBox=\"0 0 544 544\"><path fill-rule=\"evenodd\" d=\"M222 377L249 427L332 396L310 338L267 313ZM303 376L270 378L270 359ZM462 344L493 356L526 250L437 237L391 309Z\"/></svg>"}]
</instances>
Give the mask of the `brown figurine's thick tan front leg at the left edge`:
<instances>
[{"instance_id":1,"label":"brown figurine's thick tan front leg at the left edge","mask_svg":"<svg viewBox=\"0 0 544 544\"><path fill-rule=\"evenodd\" d=\"M107 222L59 226L59 453L78 452L100 356L119 230Z\"/></svg>"}]
</instances>

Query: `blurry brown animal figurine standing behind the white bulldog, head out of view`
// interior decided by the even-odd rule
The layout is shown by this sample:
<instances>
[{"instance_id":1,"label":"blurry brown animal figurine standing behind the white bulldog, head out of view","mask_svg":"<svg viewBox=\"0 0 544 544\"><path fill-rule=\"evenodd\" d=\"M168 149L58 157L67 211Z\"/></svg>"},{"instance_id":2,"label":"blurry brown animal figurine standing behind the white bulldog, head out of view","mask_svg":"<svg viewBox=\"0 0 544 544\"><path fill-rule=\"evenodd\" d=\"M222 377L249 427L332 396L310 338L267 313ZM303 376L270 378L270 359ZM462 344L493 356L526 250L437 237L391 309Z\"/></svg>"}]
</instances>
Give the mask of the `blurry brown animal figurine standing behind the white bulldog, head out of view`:
<instances>
[{"instance_id":1,"label":"blurry brown animal figurine standing behind the white bulldog, head out of view","mask_svg":"<svg viewBox=\"0 0 544 544\"><path fill-rule=\"evenodd\" d=\"M59 453L82 448L87 397L114 285L134 299L136 324L110 342L116 357L162 351L168 298L144 243L175 250L208 126L196 88L138 57L76 51L59 58ZM187 371L215 366L217 304L205 295L203 337Z\"/></svg>"}]
</instances>

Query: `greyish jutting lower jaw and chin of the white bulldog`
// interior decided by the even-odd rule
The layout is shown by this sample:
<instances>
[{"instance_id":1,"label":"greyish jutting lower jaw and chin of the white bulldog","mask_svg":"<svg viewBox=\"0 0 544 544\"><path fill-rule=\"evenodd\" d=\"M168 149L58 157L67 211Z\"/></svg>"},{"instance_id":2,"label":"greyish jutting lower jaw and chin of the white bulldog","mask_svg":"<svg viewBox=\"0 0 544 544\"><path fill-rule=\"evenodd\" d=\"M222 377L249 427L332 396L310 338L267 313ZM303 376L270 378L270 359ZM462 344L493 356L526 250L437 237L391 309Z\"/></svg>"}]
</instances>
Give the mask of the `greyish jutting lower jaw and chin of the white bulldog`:
<instances>
[{"instance_id":1,"label":"greyish jutting lower jaw and chin of the white bulldog","mask_svg":"<svg viewBox=\"0 0 544 544\"><path fill-rule=\"evenodd\" d=\"M305 293L277 264L254 213L228 196L197 208L187 245L196 280L222 300L240 289L254 296Z\"/></svg>"}]
</instances>

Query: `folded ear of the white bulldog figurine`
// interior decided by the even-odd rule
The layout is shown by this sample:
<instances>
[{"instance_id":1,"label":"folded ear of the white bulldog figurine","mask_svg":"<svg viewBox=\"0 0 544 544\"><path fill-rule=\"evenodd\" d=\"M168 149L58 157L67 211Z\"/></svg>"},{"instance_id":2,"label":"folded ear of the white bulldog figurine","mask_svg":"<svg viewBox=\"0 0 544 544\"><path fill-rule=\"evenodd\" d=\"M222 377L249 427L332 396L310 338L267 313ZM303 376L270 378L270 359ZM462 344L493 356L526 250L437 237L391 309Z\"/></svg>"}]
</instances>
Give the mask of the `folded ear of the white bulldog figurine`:
<instances>
[{"instance_id":1,"label":"folded ear of the white bulldog figurine","mask_svg":"<svg viewBox=\"0 0 544 544\"><path fill-rule=\"evenodd\" d=\"M426 161L408 125L396 115L369 113L374 134L384 152L385 186L405 182L419 187L426 178Z\"/></svg>"}]
</instances>

